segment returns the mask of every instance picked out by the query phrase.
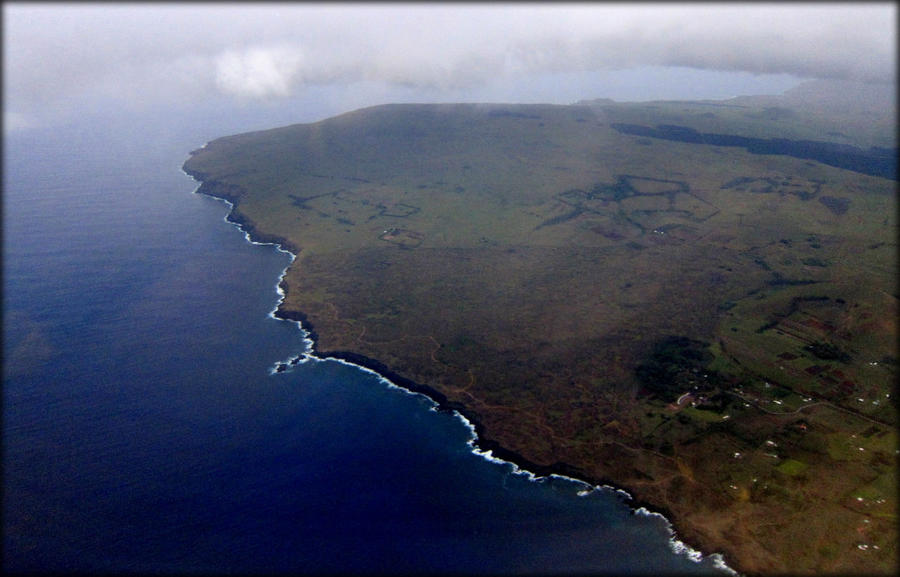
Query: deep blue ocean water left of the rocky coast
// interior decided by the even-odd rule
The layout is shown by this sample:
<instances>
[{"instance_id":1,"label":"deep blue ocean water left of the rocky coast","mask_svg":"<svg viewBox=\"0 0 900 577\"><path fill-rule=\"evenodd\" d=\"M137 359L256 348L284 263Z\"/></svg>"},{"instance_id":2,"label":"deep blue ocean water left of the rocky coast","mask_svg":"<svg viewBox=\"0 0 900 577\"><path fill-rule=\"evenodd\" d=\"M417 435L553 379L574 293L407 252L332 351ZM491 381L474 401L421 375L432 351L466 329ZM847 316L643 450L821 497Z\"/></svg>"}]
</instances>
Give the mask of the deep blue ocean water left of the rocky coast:
<instances>
[{"instance_id":1,"label":"deep blue ocean water left of the rocky coast","mask_svg":"<svg viewBox=\"0 0 900 577\"><path fill-rule=\"evenodd\" d=\"M3 565L102 573L709 573L611 490L473 453L459 418L304 350L289 256L188 151L281 118L86 118L4 142ZM256 123L256 124L254 124Z\"/></svg>"}]
</instances>

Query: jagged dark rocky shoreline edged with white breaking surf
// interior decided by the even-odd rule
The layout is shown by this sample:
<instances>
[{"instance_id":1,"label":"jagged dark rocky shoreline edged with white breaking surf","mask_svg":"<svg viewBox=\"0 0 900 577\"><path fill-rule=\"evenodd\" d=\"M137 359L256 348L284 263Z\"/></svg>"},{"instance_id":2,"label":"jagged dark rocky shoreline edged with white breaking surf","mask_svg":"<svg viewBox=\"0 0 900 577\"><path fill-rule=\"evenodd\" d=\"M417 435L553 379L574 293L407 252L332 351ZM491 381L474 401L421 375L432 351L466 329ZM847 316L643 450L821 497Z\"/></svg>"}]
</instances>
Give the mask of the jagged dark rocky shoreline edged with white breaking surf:
<instances>
[{"instance_id":1,"label":"jagged dark rocky shoreline edged with white breaking surf","mask_svg":"<svg viewBox=\"0 0 900 577\"><path fill-rule=\"evenodd\" d=\"M199 150L202 150L205 147L206 145ZM191 155L195 152L199 152L199 150L191 152ZM477 417L474 417L469 412L465 405L450 401L446 395L437 389L412 381L411 379L392 371L387 365L377 359L372 359L359 353L354 353L352 351L317 351L316 343L318 343L318 334L307 316L301 311L289 310L283 307L285 302L284 297L288 290L287 283L284 280L285 274L302 249L282 237L261 233L255 223L243 215L239 210L239 199L244 192L240 187L219 183L217 181L204 180L204 177L207 175L197 171L188 171L184 167L182 167L181 170L185 175L198 183L197 188L194 190L194 194L202 194L204 196L216 198L229 205L229 212L225 216L225 221L237 227L244 234L248 242L258 245L271 245L274 246L276 250L291 256L291 262L282 271L281 277L278 280L277 291L280 298L274 310L270 313L270 316L278 320L293 322L304 333L304 341L306 342L307 348L298 358L297 362L302 362L300 359L303 357L317 360L335 360L370 371L384 379L387 383L410 393L423 395L435 404L436 410L454 413L469 426L473 435L473 438L469 441L469 445L476 454L489 460L509 463L517 470L517 472L528 474L533 479L551 476L564 477L583 483L589 486L591 490L608 489L622 494L624 495L624 503L631 509L632 514L658 516L663 519L669 528L669 545L674 554L686 555L690 560L697 563L703 559L710 559L714 566L723 572L732 575L742 574L725 560L726 556L729 559L735 557L732 552L727 550L708 552L711 548L705 547L702 543L703 539L699 535L696 535L695 532L691 531L690 528L687 528L687 531L683 528L676 529L675 515L673 515L671 511L658 504L636 499L628 488L621 487L615 480L607 478L595 479L577 467L563 462L556 462L552 465L538 465L533 463L524 456L503 447L499 442L490 439L486 435L484 425ZM284 364L292 365L297 364L297 362ZM688 540L695 543L699 549L685 543L685 541L680 538L680 534L682 533L688 533L690 535L687 537Z\"/></svg>"}]
</instances>

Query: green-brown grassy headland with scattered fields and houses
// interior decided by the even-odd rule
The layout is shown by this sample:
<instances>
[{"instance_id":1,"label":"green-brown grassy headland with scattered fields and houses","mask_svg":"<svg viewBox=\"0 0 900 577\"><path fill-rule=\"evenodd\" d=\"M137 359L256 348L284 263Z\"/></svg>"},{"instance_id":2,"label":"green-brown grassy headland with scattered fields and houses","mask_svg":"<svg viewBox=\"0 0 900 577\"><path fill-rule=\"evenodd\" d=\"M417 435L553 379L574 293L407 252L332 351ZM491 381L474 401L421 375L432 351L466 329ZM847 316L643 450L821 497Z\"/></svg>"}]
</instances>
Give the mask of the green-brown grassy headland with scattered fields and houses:
<instances>
[{"instance_id":1,"label":"green-brown grassy headland with scattered fields and houses","mask_svg":"<svg viewBox=\"0 0 900 577\"><path fill-rule=\"evenodd\" d=\"M387 105L184 170L297 255L278 314L317 356L536 474L625 489L742 573L891 574L896 143L872 118Z\"/></svg>"}]
</instances>

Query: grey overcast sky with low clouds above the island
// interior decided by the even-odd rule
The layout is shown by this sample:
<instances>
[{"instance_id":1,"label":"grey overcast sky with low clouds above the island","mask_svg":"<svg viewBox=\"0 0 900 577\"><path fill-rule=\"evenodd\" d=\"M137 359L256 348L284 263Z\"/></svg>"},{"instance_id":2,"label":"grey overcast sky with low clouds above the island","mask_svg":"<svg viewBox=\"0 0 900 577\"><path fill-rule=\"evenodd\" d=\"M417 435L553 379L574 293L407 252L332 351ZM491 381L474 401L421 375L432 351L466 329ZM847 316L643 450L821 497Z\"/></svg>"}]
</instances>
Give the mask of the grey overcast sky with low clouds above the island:
<instances>
[{"instance_id":1,"label":"grey overcast sky with low clouds above the island","mask_svg":"<svg viewBox=\"0 0 900 577\"><path fill-rule=\"evenodd\" d=\"M386 101L569 103L895 81L878 4L44 4L4 2L8 130L84 107L322 113Z\"/></svg>"}]
</instances>

